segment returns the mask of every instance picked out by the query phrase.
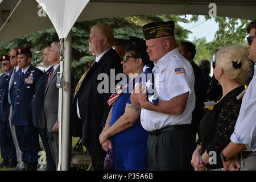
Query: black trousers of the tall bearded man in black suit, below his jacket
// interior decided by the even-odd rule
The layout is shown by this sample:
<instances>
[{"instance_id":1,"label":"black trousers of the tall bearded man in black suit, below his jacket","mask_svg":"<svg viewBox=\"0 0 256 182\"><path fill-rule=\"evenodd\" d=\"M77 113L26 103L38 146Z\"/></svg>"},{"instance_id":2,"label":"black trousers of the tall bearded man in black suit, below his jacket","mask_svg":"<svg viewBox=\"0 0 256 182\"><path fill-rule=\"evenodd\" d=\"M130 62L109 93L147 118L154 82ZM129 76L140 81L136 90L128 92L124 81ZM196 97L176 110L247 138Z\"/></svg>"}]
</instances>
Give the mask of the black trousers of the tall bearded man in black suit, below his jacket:
<instances>
[{"instance_id":1,"label":"black trousers of the tall bearded man in black suit, below his jacket","mask_svg":"<svg viewBox=\"0 0 256 182\"><path fill-rule=\"evenodd\" d=\"M92 158L92 166L95 171L103 171L104 160L106 152L102 149L101 145L98 146L85 146Z\"/></svg>"}]
</instances>

